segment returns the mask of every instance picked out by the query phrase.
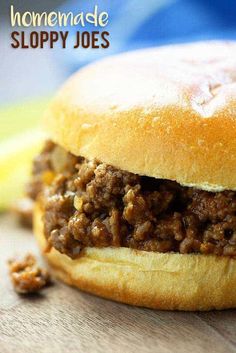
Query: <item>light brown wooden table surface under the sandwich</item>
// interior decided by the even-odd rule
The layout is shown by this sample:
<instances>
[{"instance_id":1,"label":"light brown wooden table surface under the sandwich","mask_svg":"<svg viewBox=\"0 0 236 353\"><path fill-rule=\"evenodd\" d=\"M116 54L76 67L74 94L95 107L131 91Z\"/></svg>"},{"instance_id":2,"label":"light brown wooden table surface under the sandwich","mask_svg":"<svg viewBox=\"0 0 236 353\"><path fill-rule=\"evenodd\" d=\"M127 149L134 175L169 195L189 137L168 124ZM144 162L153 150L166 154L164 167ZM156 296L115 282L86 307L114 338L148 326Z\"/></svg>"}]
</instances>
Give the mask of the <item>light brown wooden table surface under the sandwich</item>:
<instances>
[{"instance_id":1,"label":"light brown wooden table surface under the sandwich","mask_svg":"<svg viewBox=\"0 0 236 353\"><path fill-rule=\"evenodd\" d=\"M236 311L161 312L130 307L61 283L38 297L14 293L6 259L37 254L30 231L0 217L1 353L236 352Z\"/></svg>"}]
</instances>

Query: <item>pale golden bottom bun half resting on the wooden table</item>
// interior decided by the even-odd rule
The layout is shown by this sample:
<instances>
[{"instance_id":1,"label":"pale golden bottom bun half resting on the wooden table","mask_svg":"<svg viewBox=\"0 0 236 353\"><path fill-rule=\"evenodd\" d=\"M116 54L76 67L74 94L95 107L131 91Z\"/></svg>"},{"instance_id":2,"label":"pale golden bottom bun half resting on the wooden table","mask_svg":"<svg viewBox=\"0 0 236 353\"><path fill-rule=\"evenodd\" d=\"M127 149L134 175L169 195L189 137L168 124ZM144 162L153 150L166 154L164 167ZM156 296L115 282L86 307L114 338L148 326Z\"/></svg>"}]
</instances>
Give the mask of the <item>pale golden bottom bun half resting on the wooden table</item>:
<instances>
[{"instance_id":1,"label":"pale golden bottom bun half resting on the wooden table","mask_svg":"<svg viewBox=\"0 0 236 353\"><path fill-rule=\"evenodd\" d=\"M86 248L75 260L47 246L40 205L34 230L52 273L69 285L119 302L164 310L236 307L236 260L129 248Z\"/></svg>"}]
</instances>

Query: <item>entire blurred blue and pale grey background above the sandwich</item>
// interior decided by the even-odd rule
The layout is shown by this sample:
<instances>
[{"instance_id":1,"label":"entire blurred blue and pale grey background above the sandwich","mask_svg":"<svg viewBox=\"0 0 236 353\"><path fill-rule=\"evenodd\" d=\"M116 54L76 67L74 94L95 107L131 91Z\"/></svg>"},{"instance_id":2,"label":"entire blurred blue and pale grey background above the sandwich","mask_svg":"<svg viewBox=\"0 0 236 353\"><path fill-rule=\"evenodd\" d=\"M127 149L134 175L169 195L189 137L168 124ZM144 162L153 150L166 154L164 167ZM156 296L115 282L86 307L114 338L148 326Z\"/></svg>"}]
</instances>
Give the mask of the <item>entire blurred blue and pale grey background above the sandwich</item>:
<instances>
[{"instance_id":1,"label":"entire blurred blue and pale grey background above the sandwich","mask_svg":"<svg viewBox=\"0 0 236 353\"><path fill-rule=\"evenodd\" d=\"M96 4L109 13L104 30L110 32L110 48L70 49L69 44L66 50L14 50L10 4L19 11L75 13L91 11ZM4 0L0 28L0 104L4 104L52 94L73 71L105 55L166 43L236 39L236 0ZM74 32L81 29L68 30L74 41Z\"/></svg>"}]
</instances>

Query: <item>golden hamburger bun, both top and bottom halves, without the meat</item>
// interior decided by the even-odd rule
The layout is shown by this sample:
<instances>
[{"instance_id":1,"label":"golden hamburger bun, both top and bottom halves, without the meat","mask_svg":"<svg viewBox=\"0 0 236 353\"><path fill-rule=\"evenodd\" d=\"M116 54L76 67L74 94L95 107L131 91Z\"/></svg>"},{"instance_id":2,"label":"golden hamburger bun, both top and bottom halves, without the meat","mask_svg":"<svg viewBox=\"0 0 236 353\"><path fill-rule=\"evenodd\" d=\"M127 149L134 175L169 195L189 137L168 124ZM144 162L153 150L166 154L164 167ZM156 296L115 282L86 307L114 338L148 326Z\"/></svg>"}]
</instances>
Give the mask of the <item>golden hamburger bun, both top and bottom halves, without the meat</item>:
<instances>
[{"instance_id":1,"label":"golden hamburger bun, both top and bottom halves, without the meat","mask_svg":"<svg viewBox=\"0 0 236 353\"><path fill-rule=\"evenodd\" d=\"M45 115L66 151L208 191L236 190L236 43L134 51L74 74ZM157 309L236 307L230 257L85 248L77 259L45 251L43 200L34 212L55 275L84 291Z\"/></svg>"}]
</instances>

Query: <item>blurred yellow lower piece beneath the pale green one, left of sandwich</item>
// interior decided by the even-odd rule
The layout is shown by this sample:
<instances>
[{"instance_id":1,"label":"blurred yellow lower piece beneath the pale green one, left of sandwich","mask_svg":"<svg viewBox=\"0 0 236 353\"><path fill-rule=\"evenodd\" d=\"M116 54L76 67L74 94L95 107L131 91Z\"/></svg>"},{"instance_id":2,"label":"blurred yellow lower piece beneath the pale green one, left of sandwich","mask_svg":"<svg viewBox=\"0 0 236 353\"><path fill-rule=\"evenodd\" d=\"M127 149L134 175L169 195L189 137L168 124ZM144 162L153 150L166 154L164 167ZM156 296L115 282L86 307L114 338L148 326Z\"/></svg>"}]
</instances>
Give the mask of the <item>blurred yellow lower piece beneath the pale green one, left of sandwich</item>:
<instances>
[{"instance_id":1,"label":"blurred yellow lower piece beneath the pale green one, left of sandwich","mask_svg":"<svg viewBox=\"0 0 236 353\"><path fill-rule=\"evenodd\" d=\"M35 129L0 143L0 211L24 195L32 159L41 149L44 138Z\"/></svg>"}]
</instances>

